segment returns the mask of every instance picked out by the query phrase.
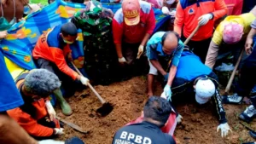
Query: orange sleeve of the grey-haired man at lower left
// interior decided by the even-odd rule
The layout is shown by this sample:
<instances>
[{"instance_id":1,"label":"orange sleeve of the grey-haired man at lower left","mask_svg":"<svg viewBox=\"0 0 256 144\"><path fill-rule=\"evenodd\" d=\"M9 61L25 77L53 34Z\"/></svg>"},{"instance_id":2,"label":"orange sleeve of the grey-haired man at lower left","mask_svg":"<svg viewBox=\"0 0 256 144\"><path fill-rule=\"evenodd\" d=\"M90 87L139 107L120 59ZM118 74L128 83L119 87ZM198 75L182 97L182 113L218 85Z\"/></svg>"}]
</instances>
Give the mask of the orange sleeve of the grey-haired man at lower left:
<instances>
[{"instance_id":1,"label":"orange sleeve of the grey-haired man at lower left","mask_svg":"<svg viewBox=\"0 0 256 144\"><path fill-rule=\"evenodd\" d=\"M33 119L26 112L22 112L19 107L8 111L11 118L14 118L26 132L33 136L51 136L54 133L52 128L45 127Z\"/></svg>"}]
</instances>

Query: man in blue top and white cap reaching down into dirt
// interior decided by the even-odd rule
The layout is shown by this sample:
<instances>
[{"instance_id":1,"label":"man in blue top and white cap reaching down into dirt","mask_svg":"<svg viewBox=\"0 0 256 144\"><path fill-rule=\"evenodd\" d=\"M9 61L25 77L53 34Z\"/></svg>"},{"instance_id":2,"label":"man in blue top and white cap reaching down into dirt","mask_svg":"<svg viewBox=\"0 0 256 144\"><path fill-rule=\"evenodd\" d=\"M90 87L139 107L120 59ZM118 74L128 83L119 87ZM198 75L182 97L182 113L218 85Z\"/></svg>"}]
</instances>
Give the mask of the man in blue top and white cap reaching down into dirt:
<instances>
[{"instance_id":1,"label":"man in blue top and white cap reaching down into dirt","mask_svg":"<svg viewBox=\"0 0 256 144\"><path fill-rule=\"evenodd\" d=\"M219 125L217 131L221 130L221 136L228 135L230 126L225 118L222 99L218 90L218 77L212 72L208 66L204 65L200 58L191 51L184 49L182 56L179 59L177 66L176 77L172 83L172 91L175 98L181 98L183 95L194 97L195 101L202 104L207 104L207 101L212 99L213 105L218 113ZM166 97L165 93L161 95ZM180 115L178 117L181 117Z\"/></svg>"}]
</instances>

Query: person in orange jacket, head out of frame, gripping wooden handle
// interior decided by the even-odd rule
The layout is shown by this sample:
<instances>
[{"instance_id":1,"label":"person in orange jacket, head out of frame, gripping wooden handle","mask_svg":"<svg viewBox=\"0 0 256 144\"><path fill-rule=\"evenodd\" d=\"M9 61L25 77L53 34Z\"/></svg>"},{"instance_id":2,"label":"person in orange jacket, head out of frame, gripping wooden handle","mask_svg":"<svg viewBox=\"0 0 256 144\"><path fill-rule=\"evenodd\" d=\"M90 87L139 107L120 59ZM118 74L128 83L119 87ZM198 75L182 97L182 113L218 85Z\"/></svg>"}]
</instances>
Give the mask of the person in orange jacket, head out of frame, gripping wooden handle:
<instances>
[{"instance_id":1,"label":"person in orange jacket, head out of frame, gripping wooden handle","mask_svg":"<svg viewBox=\"0 0 256 144\"><path fill-rule=\"evenodd\" d=\"M176 10L174 31L182 36L182 40L189 37L197 25L201 26L188 45L205 62L214 20L227 14L224 0L180 0Z\"/></svg>"}]
</instances>

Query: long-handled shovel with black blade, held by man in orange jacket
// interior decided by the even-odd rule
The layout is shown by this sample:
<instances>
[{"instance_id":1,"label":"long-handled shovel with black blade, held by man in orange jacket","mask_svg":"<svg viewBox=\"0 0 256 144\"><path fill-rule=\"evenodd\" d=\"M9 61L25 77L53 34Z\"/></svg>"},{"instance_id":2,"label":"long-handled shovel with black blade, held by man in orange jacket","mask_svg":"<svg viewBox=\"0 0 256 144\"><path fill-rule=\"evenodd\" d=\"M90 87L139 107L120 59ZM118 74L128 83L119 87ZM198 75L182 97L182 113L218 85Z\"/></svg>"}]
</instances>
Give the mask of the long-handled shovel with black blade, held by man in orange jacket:
<instances>
[{"instance_id":1,"label":"long-handled shovel with black blade, held by man in orange jacket","mask_svg":"<svg viewBox=\"0 0 256 144\"><path fill-rule=\"evenodd\" d=\"M79 71L78 67L75 66L73 64L73 62L71 62L73 67L76 69L76 71L79 73L79 75L83 76L83 74ZM88 84L89 88L92 90L92 92L97 96L97 98L102 102L102 107L99 107L96 112L100 113L102 116L106 116L108 115L110 112L112 112L113 110L113 106L108 103L107 101L105 101L101 95L99 95L96 91L96 89L94 89L90 83Z\"/></svg>"}]
</instances>

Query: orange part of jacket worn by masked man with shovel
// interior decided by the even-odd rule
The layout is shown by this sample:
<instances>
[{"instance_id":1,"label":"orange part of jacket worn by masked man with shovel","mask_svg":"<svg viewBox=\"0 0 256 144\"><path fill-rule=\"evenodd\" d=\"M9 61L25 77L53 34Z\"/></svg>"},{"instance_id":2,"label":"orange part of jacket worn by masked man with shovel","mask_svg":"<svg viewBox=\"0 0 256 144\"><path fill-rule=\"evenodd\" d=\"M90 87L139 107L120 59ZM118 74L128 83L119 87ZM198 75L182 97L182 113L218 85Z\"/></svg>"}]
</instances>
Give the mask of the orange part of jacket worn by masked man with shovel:
<instances>
[{"instance_id":1,"label":"orange part of jacket worn by masked man with shovel","mask_svg":"<svg viewBox=\"0 0 256 144\"><path fill-rule=\"evenodd\" d=\"M32 50L32 56L34 59L44 58L45 60L50 60L58 66L61 72L66 73L68 76L75 80L78 76L77 72L74 72L69 66L67 66L67 62L65 60L65 55L71 52L69 48L69 44L64 47L63 50L55 47L49 47L47 43L48 33L44 33L38 39L38 43L35 48Z\"/></svg>"}]
</instances>

